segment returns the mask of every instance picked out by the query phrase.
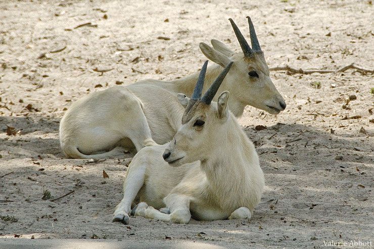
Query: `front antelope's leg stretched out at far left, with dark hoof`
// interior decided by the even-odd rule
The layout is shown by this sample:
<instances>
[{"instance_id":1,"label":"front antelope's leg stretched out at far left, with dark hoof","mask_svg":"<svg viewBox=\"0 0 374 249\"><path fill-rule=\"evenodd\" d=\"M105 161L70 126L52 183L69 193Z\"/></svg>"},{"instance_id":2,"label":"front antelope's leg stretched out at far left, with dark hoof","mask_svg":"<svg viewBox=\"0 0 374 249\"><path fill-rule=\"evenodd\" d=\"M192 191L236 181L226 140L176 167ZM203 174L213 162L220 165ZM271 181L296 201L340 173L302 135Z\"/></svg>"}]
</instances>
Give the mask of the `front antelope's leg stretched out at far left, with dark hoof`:
<instances>
[{"instance_id":1,"label":"front antelope's leg stretched out at far left, with dark hoof","mask_svg":"<svg viewBox=\"0 0 374 249\"><path fill-rule=\"evenodd\" d=\"M144 184L146 164L132 162L123 182L123 198L114 211L113 222L129 223L128 214L131 211L131 204Z\"/></svg>"}]
</instances>

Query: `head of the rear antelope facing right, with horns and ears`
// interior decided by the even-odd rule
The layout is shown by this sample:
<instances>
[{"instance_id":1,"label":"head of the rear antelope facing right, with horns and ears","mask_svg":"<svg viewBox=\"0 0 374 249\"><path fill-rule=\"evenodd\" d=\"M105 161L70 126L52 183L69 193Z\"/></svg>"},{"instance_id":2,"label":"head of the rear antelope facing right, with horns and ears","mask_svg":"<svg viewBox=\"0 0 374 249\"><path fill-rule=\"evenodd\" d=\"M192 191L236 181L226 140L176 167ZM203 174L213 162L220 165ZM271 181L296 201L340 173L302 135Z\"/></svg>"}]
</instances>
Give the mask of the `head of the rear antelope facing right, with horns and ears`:
<instances>
[{"instance_id":1,"label":"head of the rear antelope facing right, with horns and ears","mask_svg":"<svg viewBox=\"0 0 374 249\"><path fill-rule=\"evenodd\" d=\"M261 51L255 28L251 19L247 18L252 48L238 26L229 19L243 53L234 53L217 40L212 40L213 48L203 42L200 43L200 49L207 58L222 67L234 62L226 77L226 84L230 93L240 103L277 114L286 109L286 103L270 79L269 68Z\"/></svg>"}]
</instances>

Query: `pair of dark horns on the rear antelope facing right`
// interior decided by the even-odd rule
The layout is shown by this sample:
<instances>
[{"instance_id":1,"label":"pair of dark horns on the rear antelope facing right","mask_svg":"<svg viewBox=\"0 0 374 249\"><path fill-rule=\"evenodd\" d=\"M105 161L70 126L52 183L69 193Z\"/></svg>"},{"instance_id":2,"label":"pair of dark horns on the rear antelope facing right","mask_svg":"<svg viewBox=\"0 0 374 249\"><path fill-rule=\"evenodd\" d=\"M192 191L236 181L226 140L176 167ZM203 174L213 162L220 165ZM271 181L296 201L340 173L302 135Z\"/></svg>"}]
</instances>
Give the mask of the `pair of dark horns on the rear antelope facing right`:
<instances>
[{"instance_id":1,"label":"pair of dark horns on the rear antelope facing right","mask_svg":"<svg viewBox=\"0 0 374 249\"><path fill-rule=\"evenodd\" d=\"M250 33L250 36L251 36L252 48L248 45L248 42L246 41L246 39L244 38L244 36L240 32L240 30L239 30L238 26L235 24L235 22L232 21L231 18L228 19L231 23L231 26L232 26L234 32L235 32L235 35L238 38L240 46L242 47L244 57L250 57L255 52L261 52L261 47L260 47L260 43L258 42L258 39L257 39L255 27L253 26L251 18L250 17L247 17L247 18L248 18L249 33Z\"/></svg>"}]
</instances>

